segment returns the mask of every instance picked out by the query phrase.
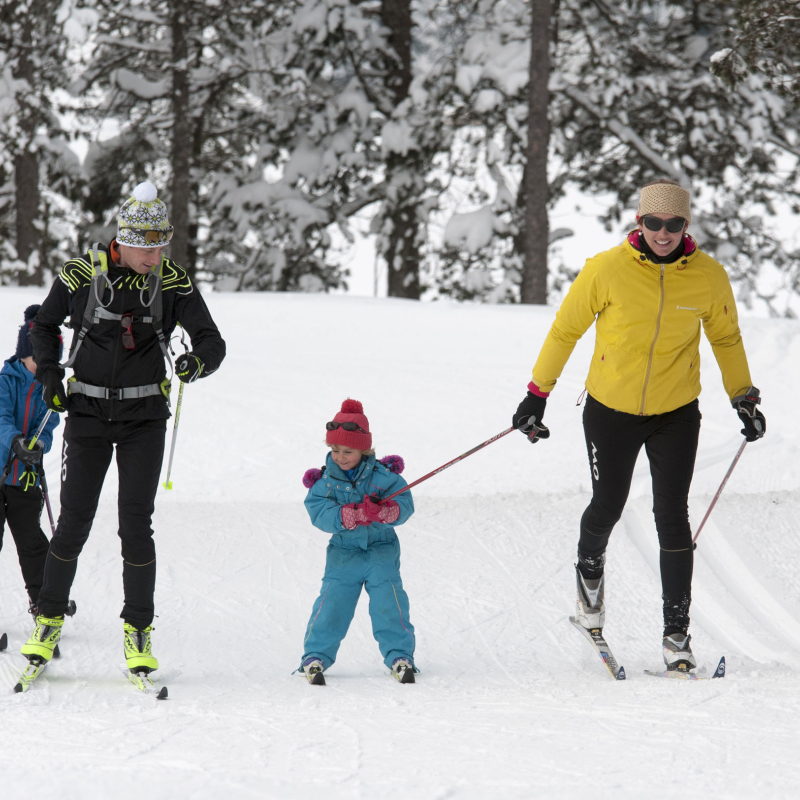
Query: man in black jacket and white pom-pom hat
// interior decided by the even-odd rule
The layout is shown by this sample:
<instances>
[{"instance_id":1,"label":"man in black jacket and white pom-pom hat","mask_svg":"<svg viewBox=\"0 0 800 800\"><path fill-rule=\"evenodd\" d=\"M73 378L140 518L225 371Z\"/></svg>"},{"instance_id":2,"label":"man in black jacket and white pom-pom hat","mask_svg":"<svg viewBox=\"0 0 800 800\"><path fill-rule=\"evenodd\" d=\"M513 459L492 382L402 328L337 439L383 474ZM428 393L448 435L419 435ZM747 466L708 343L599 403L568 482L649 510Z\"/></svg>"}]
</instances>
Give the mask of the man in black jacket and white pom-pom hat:
<instances>
[{"instance_id":1,"label":"man in black jacket and white pom-pom hat","mask_svg":"<svg viewBox=\"0 0 800 800\"><path fill-rule=\"evenodd\" d=\"M100 490L116 447L119 537L128 668L158 668L150 632L156 554L151 519L167 419L167 344L177 324L192 351L175 362L188 383L214 372L225 342L186 271L163 255L172 238L155 186L142 183L120 210L117 236L68 261L36 317L31 340L43 398L69 408L61 466L61 513L45 564L36 628L22 647L31 661L49 661L61 636L78 556L92 527ZM70 356L59 364L60 326L76 330ZM64 388L64 367L74 375Z\"/></svg>"}]
</instances>

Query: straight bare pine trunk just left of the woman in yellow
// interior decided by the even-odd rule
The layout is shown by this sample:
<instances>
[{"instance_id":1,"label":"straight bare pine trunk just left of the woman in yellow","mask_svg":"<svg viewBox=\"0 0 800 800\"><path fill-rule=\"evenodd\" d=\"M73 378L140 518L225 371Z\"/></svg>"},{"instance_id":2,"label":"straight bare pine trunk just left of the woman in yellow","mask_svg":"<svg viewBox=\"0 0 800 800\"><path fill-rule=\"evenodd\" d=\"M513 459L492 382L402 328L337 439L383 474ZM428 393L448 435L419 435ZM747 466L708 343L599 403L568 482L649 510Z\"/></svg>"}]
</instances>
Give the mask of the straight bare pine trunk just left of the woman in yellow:
<instances>
[{"instance_id":1,"label":"straight bare pine trunk just left of the woman in yellow","mask_svg":"<svg viewBox=\"0 0 800 800\"><path fill-rule=\"evenodd\" d=\"M528 87L528 152L523 173L524 199L522 243L524 268L521 300L547 303L547 151L550 123L547 118L550 78L551 0L531 0L531 61Z\"/></svg>"}]
</instances>

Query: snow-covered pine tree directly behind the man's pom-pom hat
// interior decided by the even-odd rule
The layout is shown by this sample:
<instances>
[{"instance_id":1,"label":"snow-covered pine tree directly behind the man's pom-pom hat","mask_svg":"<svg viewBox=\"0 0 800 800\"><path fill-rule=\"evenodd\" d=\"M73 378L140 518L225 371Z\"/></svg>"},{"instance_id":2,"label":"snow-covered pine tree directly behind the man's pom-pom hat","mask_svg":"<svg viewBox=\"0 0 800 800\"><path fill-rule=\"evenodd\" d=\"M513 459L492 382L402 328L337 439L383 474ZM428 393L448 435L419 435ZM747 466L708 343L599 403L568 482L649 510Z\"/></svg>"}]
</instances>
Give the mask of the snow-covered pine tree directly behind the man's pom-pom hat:
<instances>
[{"instance_id":1,"label":"snow-covered pine tree directly behind the man's pom-pom hat","mask_svg":"<svg viewBox=\"0 0 800 800\"><path fill-rule=\"evenodd\" d=\"M102 229L120 197L151 177L170 204L171 256L194 272L214 212L215 176L254 156L263 125L254 93L264 69L259 42L285 14L275 0L97 0L97 47L79 90L97 125L118 134L92 143L87 208Z\"/></svg>"}]
</instances>

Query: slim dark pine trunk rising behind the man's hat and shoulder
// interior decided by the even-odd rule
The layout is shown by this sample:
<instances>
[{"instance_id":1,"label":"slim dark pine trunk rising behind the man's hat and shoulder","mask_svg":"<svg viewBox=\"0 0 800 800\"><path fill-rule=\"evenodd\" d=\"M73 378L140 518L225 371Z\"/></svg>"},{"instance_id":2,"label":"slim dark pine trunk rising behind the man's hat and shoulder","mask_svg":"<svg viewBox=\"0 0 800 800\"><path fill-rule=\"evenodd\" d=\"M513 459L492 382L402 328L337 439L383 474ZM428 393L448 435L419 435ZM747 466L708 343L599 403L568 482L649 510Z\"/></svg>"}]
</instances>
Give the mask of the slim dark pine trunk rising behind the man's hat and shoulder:
<instances>
[{"instance_id":1,"label":"slim dark pine trunk rising behind the man's hat and shoulder","mask_svg":"<svg viewBox=\"0 0 800 800\"><path fill-rule=\"evenodd\" d=\"M170 186L170 222L175 228L169 257L184 267L194 277L195 264L190 257L190 168L191 120L189 119L189 74L187 59L189 47L186 40L186 4L184 0L172 2L172 184Z\"/></svg>"}]
</instances>

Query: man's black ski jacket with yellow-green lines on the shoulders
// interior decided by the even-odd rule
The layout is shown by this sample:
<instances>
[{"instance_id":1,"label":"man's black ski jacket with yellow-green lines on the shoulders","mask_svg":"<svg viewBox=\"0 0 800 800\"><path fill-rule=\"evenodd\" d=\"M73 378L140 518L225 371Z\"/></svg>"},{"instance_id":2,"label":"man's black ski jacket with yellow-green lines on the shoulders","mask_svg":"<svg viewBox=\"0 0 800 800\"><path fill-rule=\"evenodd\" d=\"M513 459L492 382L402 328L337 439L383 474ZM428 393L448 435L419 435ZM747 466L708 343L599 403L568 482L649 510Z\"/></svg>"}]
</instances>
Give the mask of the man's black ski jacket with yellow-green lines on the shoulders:
<instances>
[{"instance_id":1,"label":"man's black ski jacket with yellow-green lines on the shoulders","mask_svg":"<svg viewBox=\"0 0 800 800\"><path fill-rule=\"evenodd\" d=\"M77 380L110 389L144 386L160 383L167 375L167 364L158 343L155 329L141 317L152 310L149 303L147 275L139 275L112 260L115 248L109 247L108 277L114 286L105 285L102 304L115 314L133 314L134 348L123 346L123 328L117 320L101 319L92 325L72 365ZM64 377L59 366L60 326L74 329L70 353L77 343L77 332L92 291L92 272L89 255L67 261L61 268L58 280L42 303L31 329L36 377L44 380L50 370ZM200 292L192 285L186 270L166 259L162 280L164 336L168 340L178 323L191 337L192 352L203 362L202 377L210 375L225 358L225 342ZM170 416L167 399L163 395L130 400L97 399L82 394L71 394L69 411L107 420L167 419Z\"/></svg>"}]
</instances>

